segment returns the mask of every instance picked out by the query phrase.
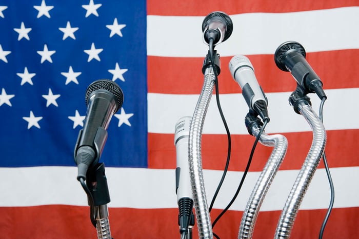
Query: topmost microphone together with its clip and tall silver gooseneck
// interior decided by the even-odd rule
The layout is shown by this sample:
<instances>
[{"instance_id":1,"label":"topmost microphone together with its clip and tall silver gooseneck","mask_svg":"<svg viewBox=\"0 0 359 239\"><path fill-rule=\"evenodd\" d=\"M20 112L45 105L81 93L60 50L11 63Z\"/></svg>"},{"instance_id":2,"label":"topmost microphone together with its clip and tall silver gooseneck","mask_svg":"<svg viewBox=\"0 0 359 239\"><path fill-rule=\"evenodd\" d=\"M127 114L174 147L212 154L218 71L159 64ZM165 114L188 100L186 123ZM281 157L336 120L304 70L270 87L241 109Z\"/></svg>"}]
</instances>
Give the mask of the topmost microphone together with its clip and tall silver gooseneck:
<instances>
[{"instance_id":1,"label":"topmost microphone together with its clip and tall silver gooseneck","mask_svg":"<svg viewBox=\"0 0 359 239\"><path fill-rule=\"evenodd\" d=\"M201 141L203 125L207 109L212 97L214 81L220 73L220 55L214 46L225 41L232 33L233 24L229 16L223 12L213 12L203 21L202 31L204 43L209 45L202 72L204 84L198 98L189 131L189 166L194 208L199 238L213 238L211 219L206 199L203 180Z\"/></svg>"}]
</instances>

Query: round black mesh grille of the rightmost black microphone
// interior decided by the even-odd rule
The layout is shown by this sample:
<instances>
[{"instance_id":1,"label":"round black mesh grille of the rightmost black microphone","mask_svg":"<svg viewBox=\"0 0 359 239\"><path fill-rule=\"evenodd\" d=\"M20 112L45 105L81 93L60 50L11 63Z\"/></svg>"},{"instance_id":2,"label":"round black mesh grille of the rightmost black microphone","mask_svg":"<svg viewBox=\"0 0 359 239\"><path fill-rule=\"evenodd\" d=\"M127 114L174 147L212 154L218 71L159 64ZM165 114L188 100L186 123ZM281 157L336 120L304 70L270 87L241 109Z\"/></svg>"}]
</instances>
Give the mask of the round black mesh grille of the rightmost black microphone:
<instances>
[{"instance_id":1,"label":"round black mesh grille of the rightmost black microphone","mask_svg":"<svg viewBox=\"0 0 359 239\"><path fill-rule=\"evenodd\" d=\"M279 69L281 69L282 71L288 71L284 61L285 61L287 55L293 51L297 51L297 52L301 53L304 56L304 58L306 57L306 52L305 52L304 47L301 44L294 42L294 41L282 43L275 50L274 62L275 62L275 65L277 65L277 67Z\"/></svg>"}]
</instances>

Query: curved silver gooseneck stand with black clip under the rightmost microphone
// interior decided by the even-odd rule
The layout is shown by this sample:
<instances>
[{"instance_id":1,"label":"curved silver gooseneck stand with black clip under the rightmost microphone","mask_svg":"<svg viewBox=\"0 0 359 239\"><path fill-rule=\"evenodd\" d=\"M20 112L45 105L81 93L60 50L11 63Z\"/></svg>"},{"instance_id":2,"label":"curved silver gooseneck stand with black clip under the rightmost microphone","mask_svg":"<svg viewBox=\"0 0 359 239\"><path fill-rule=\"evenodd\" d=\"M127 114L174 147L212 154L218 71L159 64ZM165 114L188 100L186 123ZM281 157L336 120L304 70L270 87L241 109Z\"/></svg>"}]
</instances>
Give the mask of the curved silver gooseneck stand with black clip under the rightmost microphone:
<instances>
[{"instance_id":1,"label":"curved silver gooseneck stand with black clip under the rightmost microphone","mask_svg":"<svg viewBox=\"0 0 359 239\"><path fill-rule=\"evenodd\" d=\"M312 110L310 98L300 86L290 95L289 102L294 111L302 114L313 131L313 141L302 169L298 173L278 221L274 238L289 238L296 214L303 201L315 170L323 156L326 131L320 118Z\"/></svg>"}]
</instances>

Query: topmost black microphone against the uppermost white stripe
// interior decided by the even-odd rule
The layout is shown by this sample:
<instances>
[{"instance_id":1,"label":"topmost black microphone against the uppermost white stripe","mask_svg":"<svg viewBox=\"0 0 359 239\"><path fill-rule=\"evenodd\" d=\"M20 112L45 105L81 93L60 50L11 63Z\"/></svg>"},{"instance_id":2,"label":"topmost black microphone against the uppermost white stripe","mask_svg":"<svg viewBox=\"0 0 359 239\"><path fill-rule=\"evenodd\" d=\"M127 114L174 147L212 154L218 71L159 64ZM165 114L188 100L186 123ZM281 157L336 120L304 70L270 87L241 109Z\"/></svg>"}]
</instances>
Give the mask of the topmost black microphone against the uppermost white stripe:
<instances>
[{"instance_id":1,"label":"topmost black microphone against the uppermost white stripe","mask_svg":"<svg viewBox=\"0 0 359 239\"><path fill-rule=\"evenodd\" d=\"M213 46L226 41L232 31L232 20L224 12L212 12L205 17L202 23L203 42L207 45L209 45L211 38L213 39Z\"/></svg>"}]
</instances>

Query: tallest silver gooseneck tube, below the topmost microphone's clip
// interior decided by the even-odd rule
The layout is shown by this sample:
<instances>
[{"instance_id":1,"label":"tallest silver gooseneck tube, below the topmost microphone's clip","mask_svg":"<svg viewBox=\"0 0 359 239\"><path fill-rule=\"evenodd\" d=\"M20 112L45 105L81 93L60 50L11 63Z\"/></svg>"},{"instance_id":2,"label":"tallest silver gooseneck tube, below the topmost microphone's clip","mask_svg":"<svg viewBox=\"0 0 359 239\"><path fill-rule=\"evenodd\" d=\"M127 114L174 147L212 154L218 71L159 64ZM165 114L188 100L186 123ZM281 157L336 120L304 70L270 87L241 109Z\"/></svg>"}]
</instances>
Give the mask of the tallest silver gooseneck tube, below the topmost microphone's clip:
<instances>
[{"instance_id":1,"label":"tallest silver gooseneck tube, below the topmost microphone's clip","mask_svg":"<svg viewBox=\"0 0 359 239\"><path fill-rule=\"evenodd\" d=\"M213 232L203 180L201 141L205 116L212 97L214 79L213 69L212 67L208 67L205 70L202 92L193 113L188 143L191 186L196 212L198 237L206 239L213 238Z\"/></svg>"}]
</instances>

